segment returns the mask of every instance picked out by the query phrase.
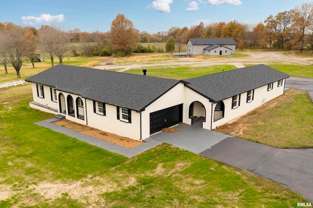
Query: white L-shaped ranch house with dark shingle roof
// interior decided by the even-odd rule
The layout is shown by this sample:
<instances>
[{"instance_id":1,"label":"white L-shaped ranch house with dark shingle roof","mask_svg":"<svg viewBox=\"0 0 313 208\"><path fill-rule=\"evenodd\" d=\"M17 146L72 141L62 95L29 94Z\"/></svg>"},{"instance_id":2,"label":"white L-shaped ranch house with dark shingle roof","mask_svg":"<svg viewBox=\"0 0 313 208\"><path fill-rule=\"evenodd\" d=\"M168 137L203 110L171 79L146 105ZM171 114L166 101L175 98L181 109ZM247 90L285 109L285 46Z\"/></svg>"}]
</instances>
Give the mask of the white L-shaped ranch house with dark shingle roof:
<instances>
[{"instance_id":1,"label":"white L-shaped ranch house with dark shingle roof","mask_svg":"<svg viewBox=\"0 0 313 208\"><path fill-rule=\"evenodd\" d=\"M179 122L214 129L284 94L287 77L263 64L185 80L60 64L26 81L30 107L142 140Z\"/></svg>"}]
</instances>

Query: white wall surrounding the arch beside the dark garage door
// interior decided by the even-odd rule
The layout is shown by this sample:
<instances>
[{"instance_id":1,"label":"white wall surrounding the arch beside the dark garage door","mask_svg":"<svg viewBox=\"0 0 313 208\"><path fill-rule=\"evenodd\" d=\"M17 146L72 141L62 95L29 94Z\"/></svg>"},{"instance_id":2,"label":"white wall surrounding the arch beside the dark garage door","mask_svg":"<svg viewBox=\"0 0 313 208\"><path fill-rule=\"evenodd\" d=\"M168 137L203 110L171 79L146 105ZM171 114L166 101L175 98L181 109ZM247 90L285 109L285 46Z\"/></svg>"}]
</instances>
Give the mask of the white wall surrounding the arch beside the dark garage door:
<instances>
[{"instance_id":1,"label":"white wall surrounding the arch beside the dark garage door","mask_svg":"<svg viewBox=\"0 0 313 208\"><path fill-rule=\"evenodd\" d=\"M205 117L205 122L202 122L202 128L211 129L210 121L211 121L212 103L206 97L199 95L198 93L187 87L185 87L185 101L182 113L183 114L182 122L191 125L191 119L189 118L189 106L192 102L195 101L201 102L205 108L205 113L203 110L201 112L198 112L201 113L201 116ZM195 104L198 105L198 103ZM194 106L194 109L196 109L196 107L197 106Z\"/></svg>"}]
</instances>

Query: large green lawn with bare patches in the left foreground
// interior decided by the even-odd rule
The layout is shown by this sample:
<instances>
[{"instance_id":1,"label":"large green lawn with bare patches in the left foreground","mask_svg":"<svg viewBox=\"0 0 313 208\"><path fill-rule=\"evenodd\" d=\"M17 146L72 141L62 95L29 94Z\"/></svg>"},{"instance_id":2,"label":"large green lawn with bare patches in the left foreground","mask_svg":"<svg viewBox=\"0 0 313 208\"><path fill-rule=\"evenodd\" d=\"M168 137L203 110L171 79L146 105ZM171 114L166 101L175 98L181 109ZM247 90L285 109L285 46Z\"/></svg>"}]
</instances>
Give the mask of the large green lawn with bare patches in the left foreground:
<instances>
[{"instance_id":1,"label":"large green lawn with bare patches in the left foreground","mask_svg":"<svg viewBox=\"0 0 313 208\"><path fill-rule=\"evenodd\" d=\"M34 122L31 86L0 89L0 207L296 207L307 202L245 170L163 144L131 159Z\"/></svg>"}]
</instances>

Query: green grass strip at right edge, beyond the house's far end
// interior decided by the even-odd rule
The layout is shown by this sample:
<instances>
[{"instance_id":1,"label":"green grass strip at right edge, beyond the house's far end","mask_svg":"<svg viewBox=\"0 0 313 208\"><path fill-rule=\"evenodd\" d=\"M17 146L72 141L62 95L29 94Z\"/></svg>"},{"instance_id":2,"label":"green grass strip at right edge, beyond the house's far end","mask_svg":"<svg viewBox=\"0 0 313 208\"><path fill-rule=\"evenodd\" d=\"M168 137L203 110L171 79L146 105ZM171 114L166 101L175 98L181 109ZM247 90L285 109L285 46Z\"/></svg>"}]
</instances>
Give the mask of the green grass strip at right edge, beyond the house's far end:
<instances>
[{"instance_id":1,"label":"green grass strip at right edge, beyond the house's far end","mask_svg":"<svg viewBox=\"0 0 313 208\"><path fill-rule=\"evenodd\" d=\"M312 65L268 64L268 66L291 76L313 78Z\"/></svg>"}]
</instances>

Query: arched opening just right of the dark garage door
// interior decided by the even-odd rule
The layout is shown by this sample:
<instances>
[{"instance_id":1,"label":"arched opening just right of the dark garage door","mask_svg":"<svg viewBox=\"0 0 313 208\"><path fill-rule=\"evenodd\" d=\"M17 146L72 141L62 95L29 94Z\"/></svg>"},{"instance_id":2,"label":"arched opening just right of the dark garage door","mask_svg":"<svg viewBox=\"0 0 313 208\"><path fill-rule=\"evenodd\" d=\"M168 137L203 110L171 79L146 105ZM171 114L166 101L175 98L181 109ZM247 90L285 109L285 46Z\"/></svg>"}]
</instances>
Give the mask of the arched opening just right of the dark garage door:
<instances>
[{"instance_id":1,"label":"arched opening just right of the dark garage door","mask_svg":"<svg viewBox=\"0 0 313 208\"><path fill-rule=\"evenodd\" d=\"M199 101L194 101L189 106L189 118L191 118L191 125L200 125L205 122L206 110L204 105Z\"/></svg>"}]
</instances>

